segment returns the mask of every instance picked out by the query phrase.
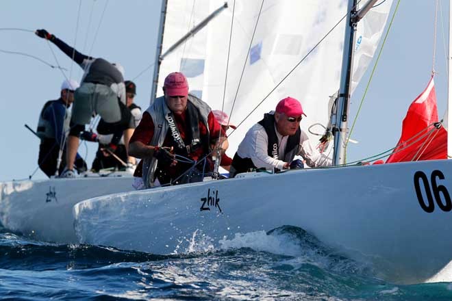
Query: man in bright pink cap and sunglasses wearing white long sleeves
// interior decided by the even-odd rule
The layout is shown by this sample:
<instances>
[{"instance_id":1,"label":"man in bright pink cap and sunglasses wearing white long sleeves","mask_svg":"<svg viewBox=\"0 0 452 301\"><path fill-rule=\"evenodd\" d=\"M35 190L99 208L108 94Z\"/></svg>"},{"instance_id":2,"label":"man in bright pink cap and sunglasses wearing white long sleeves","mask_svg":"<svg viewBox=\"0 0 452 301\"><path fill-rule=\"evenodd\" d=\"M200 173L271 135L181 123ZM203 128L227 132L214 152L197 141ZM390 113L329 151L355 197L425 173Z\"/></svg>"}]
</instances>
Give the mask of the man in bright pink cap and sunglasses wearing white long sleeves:
<instances>
[{"instance_id":1,"label":"man in bright pink cap and sunglasses wearing white long sleeves","mask_svg":"<svg viewBox=\"0 0 452 301\"><path fill-rule=\"evenodd\" d=\"M281 99L275 112L265 114L245 135L232 160L231 176L258 168L303 168L303 161L294 160L296 155L303 157L310 167L331 165L331 159L319 153L300 129L303 116L305 112L297 99Z\"/></svg>"}]
</instances>

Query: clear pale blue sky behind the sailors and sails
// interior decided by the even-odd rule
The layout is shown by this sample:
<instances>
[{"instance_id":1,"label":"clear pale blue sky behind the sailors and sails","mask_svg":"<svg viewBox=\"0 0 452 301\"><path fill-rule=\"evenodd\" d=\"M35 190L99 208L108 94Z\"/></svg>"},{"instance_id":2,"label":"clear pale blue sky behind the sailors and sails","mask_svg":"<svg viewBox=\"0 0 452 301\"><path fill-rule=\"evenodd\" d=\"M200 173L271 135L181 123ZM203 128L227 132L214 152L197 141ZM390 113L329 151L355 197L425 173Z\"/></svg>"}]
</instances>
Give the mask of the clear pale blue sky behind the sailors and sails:
<instances>
[{"instance_id":1,"label":"clear pale blue sky behind the sailors and sails","mask_svg":"<svg viewBox=\"0 0 452 301\"><path fill-rule=\"evenodd\" d=\"M425 89L431 76L435 3L435 0L401 0L351 135L358 143L349 145L348 161L382 153L397 144L407 108ZM447 105L444 49L448 38L444 28L448 26L449 1L439 0L439 3L435 82L441 118ZM52 52L45 40L31 32L47 29L68 44L75 44L81 53L120 62L125 67L125 79L134 79L137 85L135 102L146 109L153 68L142 71L155 60L160 4L160 0L1 1L0 181L27 179L30 175L33 179L45 178L37 169L39 140L24 125L36 129L42 105L58 99L64 80L57 68L2 51L26 53L52 65L60 64L67 69L66 76L79 80L82 75L79 66L53 45ZM392 12L396 4L394 0ZM355 117L374 62L375 59L352 96L350 120ZM88 167L96 150L94 143L81 144L79 148Z\"/></svg>"}]
</instances>

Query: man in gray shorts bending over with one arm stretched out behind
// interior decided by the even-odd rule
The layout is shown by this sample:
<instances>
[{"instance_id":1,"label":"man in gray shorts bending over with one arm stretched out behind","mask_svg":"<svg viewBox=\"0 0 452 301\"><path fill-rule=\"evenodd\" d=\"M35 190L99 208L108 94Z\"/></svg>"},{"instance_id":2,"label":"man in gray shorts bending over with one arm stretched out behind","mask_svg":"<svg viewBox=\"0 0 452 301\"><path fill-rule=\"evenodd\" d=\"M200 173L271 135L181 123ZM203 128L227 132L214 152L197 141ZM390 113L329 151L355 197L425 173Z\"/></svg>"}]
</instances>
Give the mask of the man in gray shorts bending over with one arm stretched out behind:
<instances>
[{"instance_id":1,"label":"man in gray shorts bending over with one arm stretched out behind","mask_svg":"<svg viewBox=\"0 0 452 301\"><path fill-rule=\"evenodd\" d=\"M84 70L81 86L75 90L66 168L61 174L62 177L73 177L73 161L77 154L80 133L85 130L85 125L90 122L93 114L99 114L112 129L114 136L108 146L112 150L116 148L122 135L129 135L127 126L130 111L125 106L124 68L101 57L89 57L79 53L45 29L38 29L35 33L55 44Z\"/></svg>"}]
</instances>

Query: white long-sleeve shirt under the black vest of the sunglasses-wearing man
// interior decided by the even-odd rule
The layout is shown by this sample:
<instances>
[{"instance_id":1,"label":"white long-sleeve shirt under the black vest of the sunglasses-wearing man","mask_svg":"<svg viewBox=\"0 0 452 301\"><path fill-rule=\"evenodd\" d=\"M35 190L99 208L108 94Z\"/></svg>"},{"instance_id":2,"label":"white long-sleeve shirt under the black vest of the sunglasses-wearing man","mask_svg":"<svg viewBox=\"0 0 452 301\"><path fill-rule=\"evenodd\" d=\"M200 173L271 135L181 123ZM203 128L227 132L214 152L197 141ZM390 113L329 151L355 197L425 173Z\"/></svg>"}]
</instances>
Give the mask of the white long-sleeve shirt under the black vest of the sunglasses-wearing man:
<instances>
[{"instance_id":1,"label":"white long-sleeve shirt under the black vest of the sunglasses-wearing man","mask_svg":"<svg viewBox=\"0 0 452 301\"><path fill-rule=\"evenodd\" d=\"M283 158L289 136L279 134L276 127L275 131L278 138L278 157ZM257 168L266 168L267 170L279 168L282 170L284 163L286 163L268 155L268 135L264 127L258 123L249 129L242 142L240 142L237 153L242 158L251 158L251 161L253 161ZM310 167L331 166L331 159L319 153L312 146L303 130L300 133L300 144L297 155L303 157L307 166Z\"/></svg>"}]
</instances>

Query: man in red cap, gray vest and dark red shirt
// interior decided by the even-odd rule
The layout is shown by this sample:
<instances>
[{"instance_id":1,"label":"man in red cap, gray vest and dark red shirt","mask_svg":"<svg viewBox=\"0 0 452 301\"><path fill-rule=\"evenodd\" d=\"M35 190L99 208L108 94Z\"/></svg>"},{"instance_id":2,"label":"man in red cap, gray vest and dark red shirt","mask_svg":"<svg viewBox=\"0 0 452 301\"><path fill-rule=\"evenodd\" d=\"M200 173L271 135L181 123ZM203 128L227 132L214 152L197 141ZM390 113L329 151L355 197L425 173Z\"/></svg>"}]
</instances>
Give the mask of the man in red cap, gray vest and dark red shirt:
<instances>
[{"instance_id":1,"label":"man in red cap, gray vest and dark red shirt","mask_svg":"<svg viewBox=\"0 0 452 301\"><path fill-rule=\"evenodd\" d=\"M135 187L175 185L203 181L212 171L210 152L227 148L225 133L207 103L188 93L184 74L166 76L160 96L143 113L130 139L129 155L142 159L134 176ZM177 157L176 157L177 155ZM180 160L177 158L186 158ZM193 168L192 161L207 157Z\"/></svg>"}]
</instances>

